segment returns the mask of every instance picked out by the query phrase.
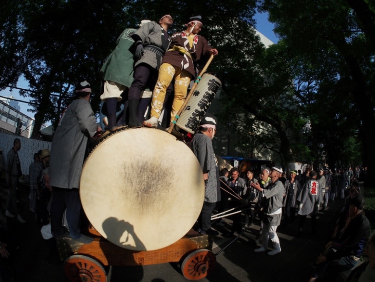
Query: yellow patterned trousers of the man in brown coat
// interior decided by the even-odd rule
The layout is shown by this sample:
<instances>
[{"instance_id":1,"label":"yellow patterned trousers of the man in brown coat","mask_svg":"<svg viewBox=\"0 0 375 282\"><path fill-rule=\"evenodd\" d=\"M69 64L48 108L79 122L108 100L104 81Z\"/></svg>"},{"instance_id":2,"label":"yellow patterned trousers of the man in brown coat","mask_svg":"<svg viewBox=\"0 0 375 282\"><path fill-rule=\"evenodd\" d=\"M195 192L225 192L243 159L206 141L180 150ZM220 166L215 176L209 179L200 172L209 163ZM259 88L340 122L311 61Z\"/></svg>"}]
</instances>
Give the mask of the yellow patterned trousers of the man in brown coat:
<instances>
[{"instance_id":1,"label":"yellow patterned trousers of the man in brown coat","mask_svg":"<svg viewBox=\"0 0 375 282\"><path fill-rule=\"evenodd\" d=\"M170 122L174 120L178 111L184 104L187 96L187 87L191 81L191 74L169 63L163 63L159 69L159 77L152 93L151 117L159 118L163 110L163 102L166 97L167 88L174 78L174 98Z\"/></svg>"}]
</instances>

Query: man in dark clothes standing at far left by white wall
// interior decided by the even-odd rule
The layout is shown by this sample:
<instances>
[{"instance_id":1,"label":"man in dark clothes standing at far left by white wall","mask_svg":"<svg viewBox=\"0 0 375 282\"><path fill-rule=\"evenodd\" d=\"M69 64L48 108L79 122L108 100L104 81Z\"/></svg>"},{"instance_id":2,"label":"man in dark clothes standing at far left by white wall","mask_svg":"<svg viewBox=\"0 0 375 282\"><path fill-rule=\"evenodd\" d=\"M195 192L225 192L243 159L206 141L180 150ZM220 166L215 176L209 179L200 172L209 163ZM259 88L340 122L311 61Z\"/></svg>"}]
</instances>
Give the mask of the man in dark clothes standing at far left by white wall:
<instances>
[{"instance_id":1,"label":"man in dark clothes standing at far left by white wall","mask_svg":"<svg viewBox=\"0 0 375 282\"><path fill-rule=\"evenodd\" d=\"M8 196L6 198L6 210L5 216L10 218L17 217L17 220L21 223L25 223L23 218L19 215L17 207L17 189L19 185L19 178L22 176L21 163L18 157L18 151L21 149L21 141L16 138L13 141L13 147L9 150L6 156L5 166L5 178L6 186L9 189ZM12 211L14 213L12 213Z\"/></svg>"}]
</instances>

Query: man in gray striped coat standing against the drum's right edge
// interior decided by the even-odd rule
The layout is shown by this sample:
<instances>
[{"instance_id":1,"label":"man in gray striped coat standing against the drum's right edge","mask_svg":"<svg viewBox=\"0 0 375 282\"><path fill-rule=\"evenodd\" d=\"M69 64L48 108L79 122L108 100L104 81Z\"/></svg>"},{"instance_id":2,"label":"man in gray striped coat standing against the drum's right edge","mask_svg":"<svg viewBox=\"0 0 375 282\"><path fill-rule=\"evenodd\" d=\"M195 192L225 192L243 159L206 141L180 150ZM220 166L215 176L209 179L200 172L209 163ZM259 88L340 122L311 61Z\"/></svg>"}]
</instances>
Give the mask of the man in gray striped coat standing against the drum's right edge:
<instances>
[{"instance_id":1,"label":"man in gray striped coat standing against the drum's right edge","mask_svg":"<svg viewBox=\"0 0 375 282\"><path fill-rule=\"evenodd\" d=\"M219 167L212 146L216 125L216 117L206 114L201 121L198 133L191 141L191 149L201 164L205 179L205 201L198 218L199 232L213 236L219 235L219 232L211 229L211 214L216 202L221 200Z\"/></svg>"}]
</instances>

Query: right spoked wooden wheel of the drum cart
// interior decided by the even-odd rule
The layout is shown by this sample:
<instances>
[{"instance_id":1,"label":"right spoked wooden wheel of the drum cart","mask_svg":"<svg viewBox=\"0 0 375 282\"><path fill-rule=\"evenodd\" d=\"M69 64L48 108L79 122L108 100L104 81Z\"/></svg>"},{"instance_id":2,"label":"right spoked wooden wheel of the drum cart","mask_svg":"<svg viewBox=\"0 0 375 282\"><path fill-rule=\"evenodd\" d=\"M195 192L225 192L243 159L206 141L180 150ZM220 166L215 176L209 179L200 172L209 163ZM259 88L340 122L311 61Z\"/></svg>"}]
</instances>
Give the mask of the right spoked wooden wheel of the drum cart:
<instances>
[{"instance_id":1,"label":"right spoked wooden wheel of the drum cart","mask_svg":"<svg viewBox=\"0 0 375 282\"><path fill-rule=\"evenodd\" d=\"M181 264L181 271L188 280L205 278L216 263L215 255L206 249L198 249L189 254Z\"/></svg>"}]
</instances>

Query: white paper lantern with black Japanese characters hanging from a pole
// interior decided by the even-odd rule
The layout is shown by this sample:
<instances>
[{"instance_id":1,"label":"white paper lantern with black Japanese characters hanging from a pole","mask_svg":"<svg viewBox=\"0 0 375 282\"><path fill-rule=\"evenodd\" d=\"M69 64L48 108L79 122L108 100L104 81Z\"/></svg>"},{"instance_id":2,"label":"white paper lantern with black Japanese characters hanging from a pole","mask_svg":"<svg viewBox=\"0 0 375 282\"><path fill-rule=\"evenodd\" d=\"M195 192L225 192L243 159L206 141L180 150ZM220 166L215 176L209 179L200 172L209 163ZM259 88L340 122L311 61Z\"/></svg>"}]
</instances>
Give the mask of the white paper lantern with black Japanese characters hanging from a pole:
<instances>
[{"instance_id":1,"label":"white paper lantern with black Japanese characters hanging from a pole","mask_svg":"<svg viewBox=\"0 0 375 282\"><path fill-rule=\"evenodd\" d=\"M220 89L221 81L217 77L205 73L187 101L184 110L176 121L176 125L180 129L194 134Z\"/></svg>"}]
</instances>

